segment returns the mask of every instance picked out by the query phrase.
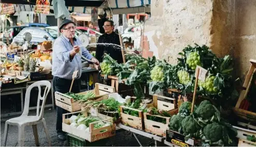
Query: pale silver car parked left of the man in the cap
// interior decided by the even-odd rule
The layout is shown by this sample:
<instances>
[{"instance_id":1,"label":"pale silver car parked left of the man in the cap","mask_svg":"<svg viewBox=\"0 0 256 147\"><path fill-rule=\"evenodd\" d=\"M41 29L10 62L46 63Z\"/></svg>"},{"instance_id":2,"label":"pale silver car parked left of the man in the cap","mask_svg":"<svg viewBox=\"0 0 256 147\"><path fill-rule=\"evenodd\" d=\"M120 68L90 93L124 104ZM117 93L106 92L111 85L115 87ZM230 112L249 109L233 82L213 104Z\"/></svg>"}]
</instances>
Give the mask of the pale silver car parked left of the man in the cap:
<instances>
[{"instance_id":1,"label":"pale silver car parked left of the man in the cap","mask_svg":"<svg viewBox=\"0 0 256 147\"><path fill-rule=\"evenodd\" d=\"M12 43L19 43L23 44L25 41L23 39L24 33L29 32L32 34L31 43L39 43L45 40L54 41L57 36L58 32L56 30L46 28L46 27L25 27L23 30L13 38Z\"/></svg>"}]
</instances>

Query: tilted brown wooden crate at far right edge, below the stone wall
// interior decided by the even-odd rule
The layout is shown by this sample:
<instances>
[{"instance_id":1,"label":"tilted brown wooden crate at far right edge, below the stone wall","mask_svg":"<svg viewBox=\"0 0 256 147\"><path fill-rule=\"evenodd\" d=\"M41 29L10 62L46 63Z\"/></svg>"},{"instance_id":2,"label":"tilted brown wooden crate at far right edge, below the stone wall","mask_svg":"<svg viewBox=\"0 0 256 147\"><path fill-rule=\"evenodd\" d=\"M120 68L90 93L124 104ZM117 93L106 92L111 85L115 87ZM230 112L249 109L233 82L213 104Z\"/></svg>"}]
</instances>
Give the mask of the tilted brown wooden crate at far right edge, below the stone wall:
<instances>
[{"instance_id":1,"label":"tilted brown wooden crate at far right edge, below the stone wall","mask_svg":"<svg viewBox=\"0 0 256 147\"><path fill-rule=\"evenodd\" d=\"M253 74L256 74L256 60L250 60L251 67L248 71L248 74L246 76L245 82L244 82L244 89L241 91L239 99L237 100L236 106L233 109L237 116L241 117L242 119L248 120L250 122L256 122L256 113L239 109L241 102L247 97L247 94L250 89L252 76ZM253 105L253 104L252 104ZM255 105L255 104L254 104Z\"/></svg>"}]
</instances>

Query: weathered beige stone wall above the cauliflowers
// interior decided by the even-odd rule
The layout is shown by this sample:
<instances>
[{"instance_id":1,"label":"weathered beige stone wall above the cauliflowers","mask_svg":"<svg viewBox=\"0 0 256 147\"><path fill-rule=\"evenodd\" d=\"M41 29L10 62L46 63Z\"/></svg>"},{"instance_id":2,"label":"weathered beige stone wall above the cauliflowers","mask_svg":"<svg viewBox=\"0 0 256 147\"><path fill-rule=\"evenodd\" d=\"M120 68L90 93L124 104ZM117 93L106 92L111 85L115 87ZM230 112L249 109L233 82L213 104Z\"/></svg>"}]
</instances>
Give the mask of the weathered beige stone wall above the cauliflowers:
<instances>
[{"instance_id":1,"label":"weathered beige stone wall above the cauliflowers","mask_svg":"<svg viewBox=\"0 0 256 147\"><path fill-rule=\"evenodd\" d=\"M145 24L149 51L170 64L187 45L207 45L220 57L235 58L237 76L244 78L249 59L256 58L256 1L152 0Z\"/></svg>"}]
</instances>

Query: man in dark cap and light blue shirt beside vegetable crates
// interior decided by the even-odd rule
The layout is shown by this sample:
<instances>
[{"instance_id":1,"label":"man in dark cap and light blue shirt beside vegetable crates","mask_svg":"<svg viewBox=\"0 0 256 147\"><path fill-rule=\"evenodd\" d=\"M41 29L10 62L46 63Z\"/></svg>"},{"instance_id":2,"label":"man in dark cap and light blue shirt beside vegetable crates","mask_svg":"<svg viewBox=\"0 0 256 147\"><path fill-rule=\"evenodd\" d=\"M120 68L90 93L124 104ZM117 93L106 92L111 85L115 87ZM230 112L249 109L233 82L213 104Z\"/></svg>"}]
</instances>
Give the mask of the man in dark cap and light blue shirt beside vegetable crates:
<instances>
[{"instance_id":1,"label":"man in dark cap and light blue shirt beside vegetable crates","mask_svg":"<svg viewBox=\"0 0 256 147\"><path fill-rule=\"evenodd\" d=\"M88 50L82 45L78 38L75 38L75 23L70 20L63 20L60 24L61 36L58 37L53 44L52 53L52 75L53 75L53 91L60 93L69 92L72 82L72 75L75 68L78 68L78 77L75 79L72 87L73 93L80 92L80 77L82 74L81 56L77 54L82 50L82 55L96 65L98 60L93 57ZM56 130L60 140L66 140L66 134L62 131L62 114L68 113L66 110L57 106Z\"/></svg>"}]
</instances>

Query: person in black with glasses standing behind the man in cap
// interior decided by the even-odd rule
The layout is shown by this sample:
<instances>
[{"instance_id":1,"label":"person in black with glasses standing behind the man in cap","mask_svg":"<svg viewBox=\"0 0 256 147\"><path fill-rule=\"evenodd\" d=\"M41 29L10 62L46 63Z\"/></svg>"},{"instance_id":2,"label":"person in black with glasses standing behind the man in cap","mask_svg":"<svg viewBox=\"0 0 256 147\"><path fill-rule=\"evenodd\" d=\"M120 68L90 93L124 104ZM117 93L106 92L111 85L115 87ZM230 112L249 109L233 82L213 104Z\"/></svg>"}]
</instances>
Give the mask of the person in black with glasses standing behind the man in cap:
<instances>
[{"instance_id":1,"label":"person in black with glasses standing behind the man in cap","mask_svg":"<svg viewBox=\"0 0 256 147\"><path fill-rule=\"evenodd\" d=\"M104 23L105 34L99 36L97 43L113 43L120 46L119 35L113 32L114 23L111 20L107 20ZM118 63L123 62L121 48L113 45L97 45L96 58L99 62L103 61L104 53L109 54ZM98 66L96 66L98 68Z\"/></svg>"}]
</instances>

